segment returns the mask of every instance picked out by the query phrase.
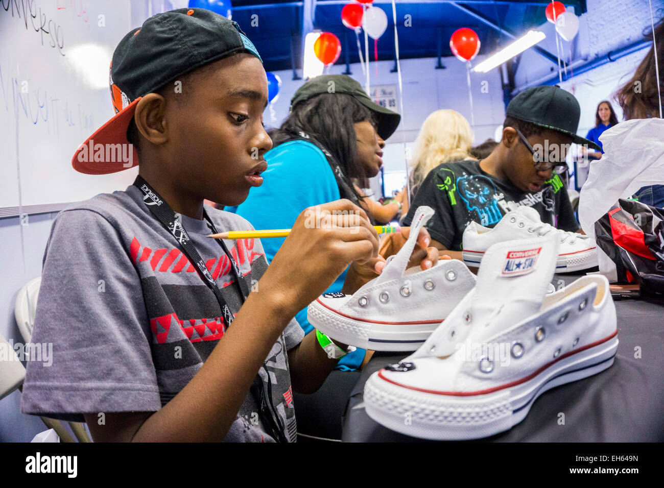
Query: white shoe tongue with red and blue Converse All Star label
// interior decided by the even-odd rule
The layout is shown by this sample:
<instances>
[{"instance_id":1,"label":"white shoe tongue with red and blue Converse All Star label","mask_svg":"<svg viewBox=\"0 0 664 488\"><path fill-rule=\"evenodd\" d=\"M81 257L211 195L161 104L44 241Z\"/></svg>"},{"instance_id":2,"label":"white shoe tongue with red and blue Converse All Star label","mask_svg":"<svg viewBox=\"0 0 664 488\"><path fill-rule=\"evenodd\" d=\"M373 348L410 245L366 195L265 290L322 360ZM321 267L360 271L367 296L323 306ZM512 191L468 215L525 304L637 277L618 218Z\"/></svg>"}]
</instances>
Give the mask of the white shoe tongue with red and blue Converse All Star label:
<instances>
[{"instance_id":1,"label":"white shoe tongue with red and blue Converse All Star label","mask_svg":"<svg viewBox=\"0 0 664 488\"><path fill-rule=\"evenodd\" d=\"M559 245L550 235L491 246L477 272L475 304L485 310L515 307L521 318L537 312L556 270Z\"/></svg>"}]
</instances>

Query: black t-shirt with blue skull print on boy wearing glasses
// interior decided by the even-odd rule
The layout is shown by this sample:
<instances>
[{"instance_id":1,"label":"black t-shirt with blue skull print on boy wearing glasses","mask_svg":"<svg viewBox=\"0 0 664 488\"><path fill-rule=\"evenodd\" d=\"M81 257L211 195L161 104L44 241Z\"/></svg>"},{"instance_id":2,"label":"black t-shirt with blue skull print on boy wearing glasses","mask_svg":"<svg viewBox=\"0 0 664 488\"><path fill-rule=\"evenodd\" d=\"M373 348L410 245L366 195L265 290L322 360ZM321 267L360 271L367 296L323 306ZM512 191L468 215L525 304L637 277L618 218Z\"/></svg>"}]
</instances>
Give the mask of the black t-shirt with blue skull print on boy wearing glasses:
<instances>
[{"instance_id":1,"label":"black t-shirt with blue skull print on boy wearing glasses","mask_svg":"<svg viewBox=\"0 0 664 488\"><path fill-rule=\"evenodd\" d=\"M461 250L463 230L475 221L493 227L517 206L532 206L542 222L562 230L578 230L567 189L558 175L553 175L540 191L521 191L479 167L479 161L443 163L432 169L410 204L403 225L410 225L420 205L428 205L436 214L427 222L432 239L452 251Z\"/></svg>"}]
</instances>

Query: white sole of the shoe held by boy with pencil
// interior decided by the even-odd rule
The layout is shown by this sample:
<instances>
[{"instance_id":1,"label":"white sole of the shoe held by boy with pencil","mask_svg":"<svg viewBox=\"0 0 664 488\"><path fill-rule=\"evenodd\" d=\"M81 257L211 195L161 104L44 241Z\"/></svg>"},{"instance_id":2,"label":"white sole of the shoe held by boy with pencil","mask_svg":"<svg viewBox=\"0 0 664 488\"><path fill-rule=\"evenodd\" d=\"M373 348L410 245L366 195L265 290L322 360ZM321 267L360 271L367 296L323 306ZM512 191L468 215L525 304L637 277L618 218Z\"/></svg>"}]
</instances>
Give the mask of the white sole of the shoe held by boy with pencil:
<instances>
[{"instance_id":1,"label":"white sole of the shoe held by boy with pencil","mask_svg":"<svg viewBox=\"0 0 664 488\"><path fill-rule=\"evenodd\" d=\"M381 323L359 321L336 313L314 301L307 320L315 328L344 344L373 351L416 351L435 331L441 320L430 323Z\"/></svg>"}]
</instances>

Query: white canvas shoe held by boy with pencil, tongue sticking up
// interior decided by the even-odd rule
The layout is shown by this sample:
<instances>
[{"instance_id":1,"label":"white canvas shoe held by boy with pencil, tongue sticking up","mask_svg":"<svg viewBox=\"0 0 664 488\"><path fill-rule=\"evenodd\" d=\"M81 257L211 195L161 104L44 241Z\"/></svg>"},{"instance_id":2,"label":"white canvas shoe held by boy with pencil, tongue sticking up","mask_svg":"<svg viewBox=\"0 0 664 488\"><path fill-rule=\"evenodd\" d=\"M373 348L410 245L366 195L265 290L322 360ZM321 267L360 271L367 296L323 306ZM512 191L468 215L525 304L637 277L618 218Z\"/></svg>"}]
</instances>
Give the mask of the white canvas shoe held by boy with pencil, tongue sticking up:
<instances>
[{"instance_id":1,"label":"white canvas shoe held by boy with pencil, tongue sticking up","mask_svg":"<svg viewBox=\"0 0 664 488\"><path fill-rule=\"evenodd\" d=\"M353 295L324 293L307 319L331 339L374 351L415 351L475 286L475 275L459 260L406 271L420 228L434 210L420 206L403 248L390 256L378 278Z\"/></svg>"}]
</instances>

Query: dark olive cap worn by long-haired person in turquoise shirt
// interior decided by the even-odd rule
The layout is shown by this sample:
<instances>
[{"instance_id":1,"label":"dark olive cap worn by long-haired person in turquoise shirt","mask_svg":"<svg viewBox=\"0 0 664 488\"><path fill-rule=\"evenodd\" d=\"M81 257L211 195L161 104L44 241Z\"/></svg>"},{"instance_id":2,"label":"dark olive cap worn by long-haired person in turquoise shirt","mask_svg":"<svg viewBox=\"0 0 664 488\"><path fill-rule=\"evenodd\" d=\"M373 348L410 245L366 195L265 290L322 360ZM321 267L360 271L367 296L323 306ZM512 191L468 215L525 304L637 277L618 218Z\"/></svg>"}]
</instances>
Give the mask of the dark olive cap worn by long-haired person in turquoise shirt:
<instances>
[{"instance_id":1,"label":"dark olive cap worn by long-haired person in turquoise shirt","mask_svg":"<svg viewBox=\"0 0 664 488\"><path fill-rule=\"evenodd\" d=\"M311 78L311 80L299 87L293 98L291 98L290 111L292 112L293 107L300 102L305 102L305 100L323 93L344 93L351 95L355 100L371 110L376 115L376 120L378 121L376 132L378 132L378 135L382 139L390 137L401 121L399 114L373 102L367 96L361 84L346 74L321 74L321 76Z\"/></svg>"}]
</instances>

